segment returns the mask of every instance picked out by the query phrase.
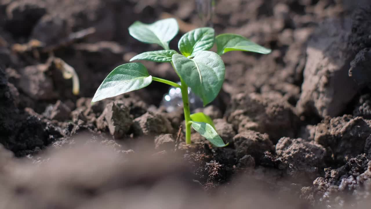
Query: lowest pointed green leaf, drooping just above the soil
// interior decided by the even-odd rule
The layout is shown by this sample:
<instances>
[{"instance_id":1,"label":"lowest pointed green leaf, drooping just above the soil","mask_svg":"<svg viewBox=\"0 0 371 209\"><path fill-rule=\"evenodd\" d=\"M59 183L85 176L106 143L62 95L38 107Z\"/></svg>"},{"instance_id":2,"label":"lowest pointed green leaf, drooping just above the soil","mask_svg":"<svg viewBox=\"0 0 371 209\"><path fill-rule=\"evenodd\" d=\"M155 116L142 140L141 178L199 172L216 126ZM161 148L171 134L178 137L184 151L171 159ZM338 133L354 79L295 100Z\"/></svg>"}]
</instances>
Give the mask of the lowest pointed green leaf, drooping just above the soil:
<instances>
[{"instance_id":1,"label":"lowest pointed green leaf, drooping just above the soil","mask_svg":"<svg viewBox=\"0 0 371 209\"><path fill-rule=\"evenodd\" d=\"M224 144L223 139L220 138L213 126L208 123L193 122L192 127L216 147L225 147L229 144Z\"/></svg>"}]
</instances>

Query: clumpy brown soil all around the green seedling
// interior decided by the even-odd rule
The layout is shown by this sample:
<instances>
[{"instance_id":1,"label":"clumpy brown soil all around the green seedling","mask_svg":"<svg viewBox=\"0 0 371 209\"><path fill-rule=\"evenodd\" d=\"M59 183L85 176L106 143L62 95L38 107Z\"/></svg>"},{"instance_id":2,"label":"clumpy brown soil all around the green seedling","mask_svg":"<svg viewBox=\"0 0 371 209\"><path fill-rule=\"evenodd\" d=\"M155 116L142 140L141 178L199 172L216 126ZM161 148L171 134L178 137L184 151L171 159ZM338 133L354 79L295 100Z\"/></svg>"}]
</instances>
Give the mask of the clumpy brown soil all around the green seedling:
<instances>
[{"instance_id":1,"label":"clumpy brown soil all around the green seedling","mask_svg":"<svg viewBox=\"0 0 371 209\"><path fill-rule=\"evenodd\" d=\"M212 105L226 148L185 145L166 85L91 105L105 76L159 49L135 20L200 26L188 0L0 0L0 208L365 208L371 199L371 3L219 0L217 33L272 48L223 55ZM85 30L88 29L88 30ZM79 39L71 35L92 31ZM50 51L72 66L72 94ZM177 81L171 65L144 62Z\"/></svg>"}]
</instances>

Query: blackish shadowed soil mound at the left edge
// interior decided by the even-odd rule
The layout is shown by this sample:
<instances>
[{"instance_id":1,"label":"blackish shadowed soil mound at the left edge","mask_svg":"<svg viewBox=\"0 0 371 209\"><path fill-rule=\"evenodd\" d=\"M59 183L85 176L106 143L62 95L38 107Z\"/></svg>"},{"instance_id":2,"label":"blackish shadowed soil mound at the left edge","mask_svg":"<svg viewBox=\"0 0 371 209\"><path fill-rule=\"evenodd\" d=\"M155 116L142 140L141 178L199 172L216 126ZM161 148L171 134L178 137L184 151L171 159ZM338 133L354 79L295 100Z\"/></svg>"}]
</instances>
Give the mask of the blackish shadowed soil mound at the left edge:
<instances>
[{"instance_id":1,"label":"blackish shadowed soil mound at the left edge","mask_svg":"<svg viewBox=\"0 0 371 209\"><path fill-rule=\"evenodd\" d=\"M0 68L0 143L16 156L35 153L62 134L50 123L19 110L7 85L5 71Z\"/></svg>"}]
</instances>

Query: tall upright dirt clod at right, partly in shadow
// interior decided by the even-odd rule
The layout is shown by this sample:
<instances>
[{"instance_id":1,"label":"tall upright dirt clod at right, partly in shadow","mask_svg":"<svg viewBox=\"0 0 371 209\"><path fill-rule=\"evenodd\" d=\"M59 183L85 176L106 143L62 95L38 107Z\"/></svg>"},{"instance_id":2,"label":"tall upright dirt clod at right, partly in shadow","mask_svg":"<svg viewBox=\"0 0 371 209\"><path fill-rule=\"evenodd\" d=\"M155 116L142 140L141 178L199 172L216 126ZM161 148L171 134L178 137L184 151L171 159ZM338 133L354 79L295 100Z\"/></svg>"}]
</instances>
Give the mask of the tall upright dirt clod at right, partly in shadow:
<instances>
[{"instance_id":1,"label":"tall upright dirt clod at right, partly in shadow","mask_svg":"<svg viewBox=\"0 0 371 209\"><path fill-rule=\"evenodd\" d=\"M349 63L355 55L349 42L350 30L349 19L330 19L312 34L297 104L299 113L335 117L357 94L359 87L348 76Z\"/></svg>"}]
</instances>

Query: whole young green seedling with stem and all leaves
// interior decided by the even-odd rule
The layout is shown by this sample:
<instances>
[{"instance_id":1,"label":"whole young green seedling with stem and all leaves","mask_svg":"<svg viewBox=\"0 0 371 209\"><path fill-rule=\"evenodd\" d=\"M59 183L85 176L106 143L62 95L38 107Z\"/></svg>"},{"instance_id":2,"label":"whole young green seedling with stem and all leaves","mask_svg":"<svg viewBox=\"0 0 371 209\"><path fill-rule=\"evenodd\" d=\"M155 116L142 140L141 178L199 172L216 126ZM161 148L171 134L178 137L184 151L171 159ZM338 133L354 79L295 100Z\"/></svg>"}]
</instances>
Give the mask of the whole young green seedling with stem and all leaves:
<instances>
[{"instance_id":1,"label":"whole young green seedling with stem and all leaves","mask_svg":"<svg viewBox=\"0 0 371 209\"><path fill-rule=\"evenodd\" d=\"M164 50L144 52L133 57L134 60L154 62L170 62L180 78L181 85L153 77L147 68L138 62L123 64L116 67L102 82L92 102L148 86L158 81L180 88L185 118L185 140L191 144L191 126L216 147L224 147L223 140L215 131L213 120L204 113L190 114L188 87L199 96L203 105L212 102L218 95L224 81L225 67L220 55L229 51L250 51L261 54L270 53L270 49L257 45L249 39L236 34L221 34L215 37L213 28L197 28L185 33L178 42L180 53L169 48L169 42L178 33L175 19L163 19L153 24L135 22L129 27L129 33L138 41L158 44ZM214 44L217 53L207 51Z\"/></svg>"}]
</instances>

